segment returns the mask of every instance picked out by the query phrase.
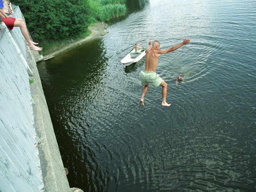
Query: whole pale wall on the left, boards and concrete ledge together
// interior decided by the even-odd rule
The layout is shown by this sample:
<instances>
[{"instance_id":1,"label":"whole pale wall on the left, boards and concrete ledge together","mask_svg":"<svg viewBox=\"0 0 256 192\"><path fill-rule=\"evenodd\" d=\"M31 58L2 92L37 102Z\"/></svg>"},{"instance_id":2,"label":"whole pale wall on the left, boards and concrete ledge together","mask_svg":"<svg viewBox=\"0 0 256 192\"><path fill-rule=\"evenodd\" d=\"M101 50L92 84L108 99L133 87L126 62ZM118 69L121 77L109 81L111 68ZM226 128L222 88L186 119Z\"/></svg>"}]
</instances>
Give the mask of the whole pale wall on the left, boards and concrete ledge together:
<instances>
[{"instance_id":1,"label":"whole pale wall on the left, boards and concrete ledge together","mask_svg":"<svg viewBox=\"0 0 256 192\"><path fill-rule=\"evenodd\" d=\"M0 24L0 192L70 192L32 52Z\"/></svg>"}]
</instances>

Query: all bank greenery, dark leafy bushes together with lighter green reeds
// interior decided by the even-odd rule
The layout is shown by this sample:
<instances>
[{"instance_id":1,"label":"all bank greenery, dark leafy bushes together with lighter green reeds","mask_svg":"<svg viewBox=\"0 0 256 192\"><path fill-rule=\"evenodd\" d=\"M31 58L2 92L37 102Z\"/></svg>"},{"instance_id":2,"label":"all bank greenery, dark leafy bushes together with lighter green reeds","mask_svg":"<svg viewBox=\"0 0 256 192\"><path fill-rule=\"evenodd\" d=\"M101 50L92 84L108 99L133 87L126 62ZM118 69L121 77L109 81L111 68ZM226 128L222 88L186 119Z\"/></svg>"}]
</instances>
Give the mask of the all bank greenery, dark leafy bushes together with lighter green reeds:
<instances>
[{"instance_id":1,"label":"all bank greenery, dark leafy bushes together with lighter green reeds","mask_svg":"<svg viewBox=\"0 0 256 192\"><path fill-rule=\"evenodd\" d=\"M37 40L63 40L85 33L96 20L126 14L125 0L15 0ZM122 3L122 4L120 4Z\"/></svg>"}]
</instances>

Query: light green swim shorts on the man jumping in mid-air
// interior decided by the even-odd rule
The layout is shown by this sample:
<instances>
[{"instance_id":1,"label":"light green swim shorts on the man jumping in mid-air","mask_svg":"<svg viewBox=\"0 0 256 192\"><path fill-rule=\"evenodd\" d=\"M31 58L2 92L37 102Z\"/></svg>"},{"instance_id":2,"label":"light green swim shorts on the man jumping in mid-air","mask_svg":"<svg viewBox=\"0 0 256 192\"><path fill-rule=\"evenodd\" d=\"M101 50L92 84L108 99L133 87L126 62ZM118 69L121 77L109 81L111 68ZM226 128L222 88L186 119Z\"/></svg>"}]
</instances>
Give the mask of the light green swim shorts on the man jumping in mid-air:
<instances>
[{"instance_id":1,"label":"light green swim shorts on the man jumping in mid-air","mask_svg":"<svg viewBox=\"0 0 256 192\"><path fill-rule=\"evenodd\" d=\"M140 80L142 86L149 83L154 87L159 86L163 81L163 79L161 79L161 77L159 77L159 75L153 71L140 71Z\"/></svg>"}]
</instances>

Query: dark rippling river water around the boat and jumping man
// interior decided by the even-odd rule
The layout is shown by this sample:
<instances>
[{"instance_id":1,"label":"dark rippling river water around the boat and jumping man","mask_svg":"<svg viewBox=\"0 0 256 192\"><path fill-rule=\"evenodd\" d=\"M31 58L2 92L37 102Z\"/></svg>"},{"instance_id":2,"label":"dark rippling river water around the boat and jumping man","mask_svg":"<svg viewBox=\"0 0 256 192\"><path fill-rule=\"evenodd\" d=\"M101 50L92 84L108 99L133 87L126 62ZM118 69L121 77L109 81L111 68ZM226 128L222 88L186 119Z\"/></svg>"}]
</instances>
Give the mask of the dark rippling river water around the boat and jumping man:
<instances>
[{"instance_id":1,"label":"dark rippling river water around the boat and jumping man","mask_svg":"<svg viewBox=\"0 0 256 192\"><path fill-rule=\"evenodd\" d=\"M256 191L256 1L133 0L109 33L38 64L71 187L85 192ZM143 58L167 49L142 107ZM175 84L177 75L184 83Z\"/></svg>"}]
</instances>

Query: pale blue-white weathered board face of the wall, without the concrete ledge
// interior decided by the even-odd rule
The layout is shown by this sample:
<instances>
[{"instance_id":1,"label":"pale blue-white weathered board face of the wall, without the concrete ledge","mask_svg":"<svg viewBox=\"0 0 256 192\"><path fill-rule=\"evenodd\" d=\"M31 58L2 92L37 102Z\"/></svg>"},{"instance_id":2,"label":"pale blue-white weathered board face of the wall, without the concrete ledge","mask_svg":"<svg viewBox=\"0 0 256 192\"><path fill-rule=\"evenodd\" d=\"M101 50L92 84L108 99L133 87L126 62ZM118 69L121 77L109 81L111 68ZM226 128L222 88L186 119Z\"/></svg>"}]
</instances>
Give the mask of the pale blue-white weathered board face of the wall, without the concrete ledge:
<instances>
[{"instance_id":1,"label":"pale blue-white weathered board face of the wall, without the concrete ledge","mask_svg":"<svg viewBox=\"0 0 256 192\"><path fill-rule=\"evenodd\" d=\"M22 34L12 34L0 23L0 191L43 192L28 71L33 73L22 55Z\"/></svg>"}]
</instances>

